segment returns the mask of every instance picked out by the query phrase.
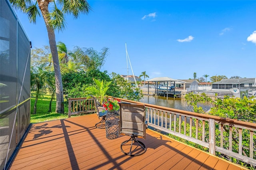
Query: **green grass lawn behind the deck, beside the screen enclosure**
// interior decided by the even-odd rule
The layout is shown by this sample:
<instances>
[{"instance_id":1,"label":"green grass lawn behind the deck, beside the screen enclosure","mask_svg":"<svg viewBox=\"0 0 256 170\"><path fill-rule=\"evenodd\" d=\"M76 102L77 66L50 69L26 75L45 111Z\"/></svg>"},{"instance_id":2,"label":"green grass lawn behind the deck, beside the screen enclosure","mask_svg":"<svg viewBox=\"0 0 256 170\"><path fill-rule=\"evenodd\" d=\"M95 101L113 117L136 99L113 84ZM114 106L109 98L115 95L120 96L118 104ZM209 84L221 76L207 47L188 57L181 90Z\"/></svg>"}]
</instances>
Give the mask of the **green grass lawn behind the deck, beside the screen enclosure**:
<instances>
[{"instance_id":1,"label":"green grass lawn behind the deck, beside the screen enclosure","mask_svg":"<svg viewBox=\"0 0 256 170\"><path fill-rule=\"evenodd\" d=\"M30 123L39 123L45 121L52 121L56 119L68 118L68 106L64 107L64 114L56 113L56 100L52 101L52 112L48 112L50 105L50 95L44 95L38 98L36 114L34 112L35 93L31 93L31 115Z\"/></svg>"}]
</instances>

